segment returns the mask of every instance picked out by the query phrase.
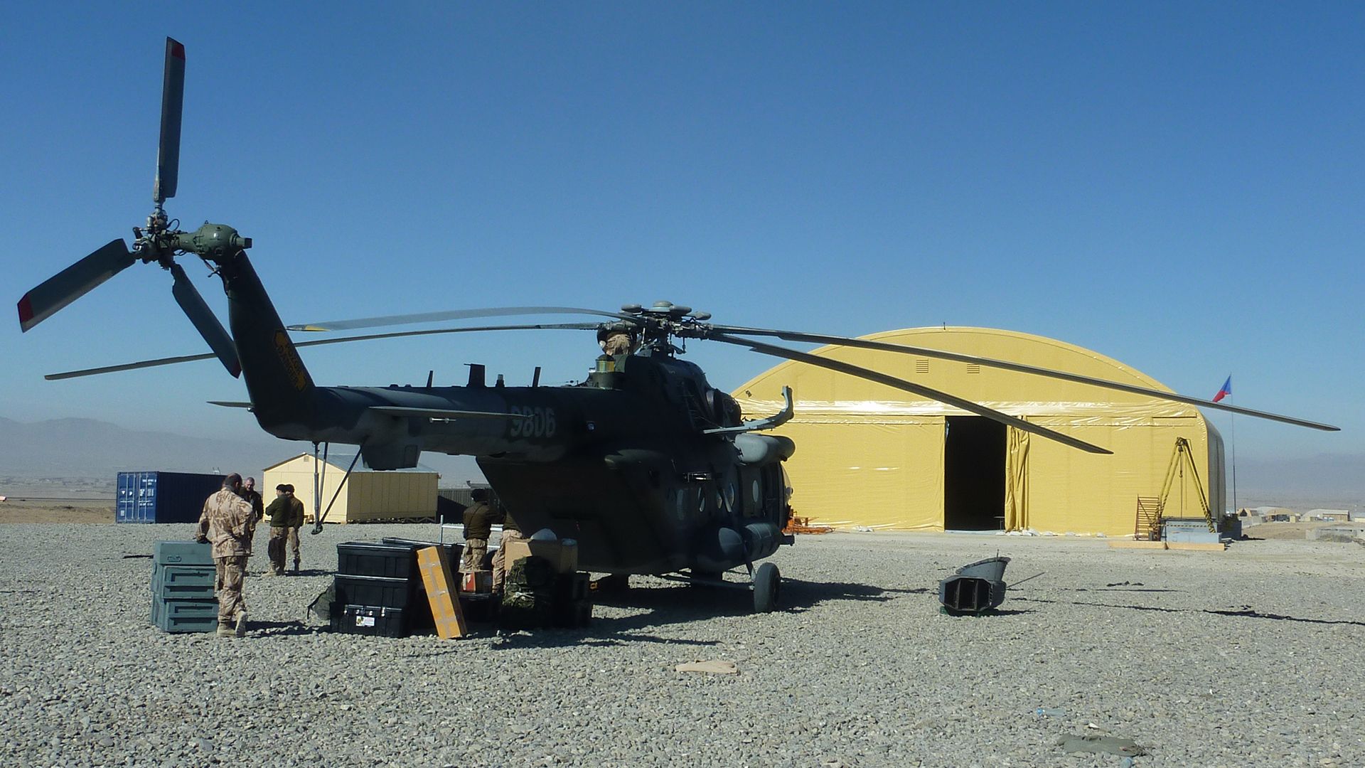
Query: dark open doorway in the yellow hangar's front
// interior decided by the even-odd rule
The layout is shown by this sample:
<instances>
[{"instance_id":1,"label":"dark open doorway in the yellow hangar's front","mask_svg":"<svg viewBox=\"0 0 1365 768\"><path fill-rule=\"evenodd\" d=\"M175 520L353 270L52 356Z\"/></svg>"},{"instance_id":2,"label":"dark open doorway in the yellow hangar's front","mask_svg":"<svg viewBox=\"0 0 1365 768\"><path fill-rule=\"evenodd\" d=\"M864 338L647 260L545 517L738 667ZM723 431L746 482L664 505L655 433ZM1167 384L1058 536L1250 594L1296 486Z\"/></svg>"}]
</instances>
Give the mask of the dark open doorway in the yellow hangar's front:
<instances>
[{"instance_id":1,"label":"dark open doorway in the yellow hangar's front","mask_svg":"<svg viewBox=\"0 0 1365 768\"><path fill-rule=\"evenodd\" d=\"M1005 530L1005 425L950 415L943 436L943 529Z\"/></svg>"}]
</instances>

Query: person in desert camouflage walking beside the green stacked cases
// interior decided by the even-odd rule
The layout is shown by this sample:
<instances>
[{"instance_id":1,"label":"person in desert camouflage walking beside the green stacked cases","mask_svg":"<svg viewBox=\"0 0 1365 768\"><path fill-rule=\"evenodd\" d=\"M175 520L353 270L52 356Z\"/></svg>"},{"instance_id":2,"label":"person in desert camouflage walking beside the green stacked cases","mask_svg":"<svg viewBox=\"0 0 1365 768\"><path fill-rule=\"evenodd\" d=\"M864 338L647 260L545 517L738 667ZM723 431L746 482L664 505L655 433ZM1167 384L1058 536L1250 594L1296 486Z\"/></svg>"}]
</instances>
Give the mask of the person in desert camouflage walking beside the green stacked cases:
<instances>
[{"instance_id":1,"label":"person in desert camouflage walking beside the green stacked cases","mask_svg":"<svg viewBox=\"0 0 1365 768\"><path fill-rule=\"evenodd\" d=\"M251 503L242 497L242 476L236 473L222 480L222 488L209 496L199 515L199 541L213 544L213 564L218 571L218 637L247 633L242 578L251 555L254 515Z\"/></svg>"}]
</instances>

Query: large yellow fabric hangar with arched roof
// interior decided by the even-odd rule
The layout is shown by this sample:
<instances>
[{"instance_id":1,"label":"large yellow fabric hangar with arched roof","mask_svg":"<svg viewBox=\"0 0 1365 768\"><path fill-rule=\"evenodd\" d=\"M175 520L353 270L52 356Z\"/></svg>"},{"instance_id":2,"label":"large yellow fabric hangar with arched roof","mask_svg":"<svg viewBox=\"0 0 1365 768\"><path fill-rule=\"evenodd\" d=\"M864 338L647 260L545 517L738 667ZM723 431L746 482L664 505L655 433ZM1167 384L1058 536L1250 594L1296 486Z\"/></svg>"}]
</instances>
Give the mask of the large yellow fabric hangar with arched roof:
<instances>
[{"instance_id":1,"label":"large yellow fabric hangar with arched roof","mask_svg":"<svg viewBox=\"0 0 1365 768\"><path fill-rule=\"evenodd\" d=\"M947 327L863 338L1170 391L1112 358L1029 333ZM1223 439L1194 406L917 355L850 347L812 354L975 400L1112 455L789 361L734 398L752 418L781 410L781 389L792 387L796 415L775 432L796 441L786 471L799 517L839 527L1130 536L1138 497L1162 493L1178 437L1189 440L1194 471L1178 466L1166 517L1203 517L1200 489L1213 515L1224 508Z\"/></svg>"}]
</instances>

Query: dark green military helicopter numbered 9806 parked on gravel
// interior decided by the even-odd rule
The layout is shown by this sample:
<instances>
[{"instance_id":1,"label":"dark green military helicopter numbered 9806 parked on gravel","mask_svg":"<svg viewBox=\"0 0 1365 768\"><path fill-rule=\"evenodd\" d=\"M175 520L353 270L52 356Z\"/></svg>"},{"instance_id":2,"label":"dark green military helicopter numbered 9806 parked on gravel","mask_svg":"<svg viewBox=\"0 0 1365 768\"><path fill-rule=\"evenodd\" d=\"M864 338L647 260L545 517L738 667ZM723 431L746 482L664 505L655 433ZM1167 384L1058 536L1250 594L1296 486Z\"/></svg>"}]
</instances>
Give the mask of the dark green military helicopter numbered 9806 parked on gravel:
<instances>
[{"instance_id":1,"label":"dark green military helicopter numbered 9806 parked on gravel","mask_svg":"<svg viewBox=\"0 0 1365 768\"><path fill-rule=\"evenodd\" d=\"M180 231L165 213L162 204L175 197L179 172L184 66L184 46L167 38L153 212L143 227L134 227L132 247L123 239L111 241L25 294L18 306L19 325L31 329L141 261L171 272L173 298L212 353L74 370L48 379L217 358L229 374L244 379L250 399L216 404L250 409L261 428L277 437L307 440L315 447L358 445L358 458L381 470L416 466L423 451L476 456L523 530L547 527L560 537L576 538L580 566L588 571L673 575L734 586L721 574L743 566L751 577L744 586L753 592L755 609L770 611L779 604L781 574L773 563L759 560L792 543L782 533L790 515L782 462L793 455L796 445L788 437L762 432L792 417L792 391L784 389L785 407L779 413L745 420L734 399L711 387L699 366L681 359L681 343L688 339L741 346L867 379L1097 454L1110 451L913 381L753 338L936 357L1336 429L1010 361L822 333L721 325L710 323L707 313L669 302L627 305L620 312L490 307L285 325L247 257L250 238L225 224L206 223L194 232ZM201 258L222 280L231 333L175 261L184 254ZM531 314L598 320L385 332L298 343L289 333ZM584 381L558 387L541 385L539 369L530 387L508 387L501 379L489 385L480 365L470 366L463 387L434 387L430 376L425 387L319 387L298 351L315 344L512 329L595 331L606 348ZM352 462L347 474L354 467ZM324 515L318 514L314 532Z\"/></svg>"}]
</instances>

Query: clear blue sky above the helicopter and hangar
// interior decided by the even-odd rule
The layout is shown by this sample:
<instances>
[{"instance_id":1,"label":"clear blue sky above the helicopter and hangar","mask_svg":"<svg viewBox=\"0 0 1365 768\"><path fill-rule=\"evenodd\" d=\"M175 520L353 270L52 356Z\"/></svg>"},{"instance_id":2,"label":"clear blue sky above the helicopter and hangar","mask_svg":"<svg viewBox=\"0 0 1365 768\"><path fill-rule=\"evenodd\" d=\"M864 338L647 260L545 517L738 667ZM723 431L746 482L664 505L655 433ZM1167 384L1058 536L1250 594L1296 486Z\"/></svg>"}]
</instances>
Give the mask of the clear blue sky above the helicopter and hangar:
<instances>
[{"instance_id":1,"label":"clear blue sky above the helicopter and hangar","mask_svg":"<svg viewBox=\"0 0 1365 768\"><path fill-rule=\"evenodd\" d=\"M1365 452L1365 5L16 4L0 11L10 306L152 208L162 38L180 194L255 239L285 321L667 298L721 323L1010 328ZM210 303L225 302L197 262ZM0 324L0 415L254 435L169 276ZM14 312L12 309L10 310ZM590 336L306 350L324 384L576 379ZM693 346L733 388L770 362ZM1227 435L1226 418L1215 417Z\"/></svg>"}]
</instances>

